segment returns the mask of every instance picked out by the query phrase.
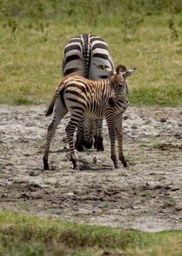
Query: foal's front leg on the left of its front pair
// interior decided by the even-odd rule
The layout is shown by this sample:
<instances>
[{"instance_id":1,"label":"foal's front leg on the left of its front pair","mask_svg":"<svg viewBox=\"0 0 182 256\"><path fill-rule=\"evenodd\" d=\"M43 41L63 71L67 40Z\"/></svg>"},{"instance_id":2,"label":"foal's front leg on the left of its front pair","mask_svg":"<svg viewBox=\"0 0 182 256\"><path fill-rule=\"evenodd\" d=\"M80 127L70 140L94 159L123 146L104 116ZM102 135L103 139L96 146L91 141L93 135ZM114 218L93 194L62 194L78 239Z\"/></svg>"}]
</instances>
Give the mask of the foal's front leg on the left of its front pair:
<instances>
[{"instance_id":1,"label":"foal's front leg on the left of its front pair","mask_svg":"<svg viewBox=\"0 0 182 256\"><path fill-rule=\"evenodd\" d=\"M109 139L111 142L111 159L114 163L115 169L119 168L118 161L117 161L117 155L115 152L115 137L116 137L116 131L115 131L115 115L109 113L108 116L106 116L106 122L108 125L108 131L109 131Z\"/></svg>"}]
</instances>

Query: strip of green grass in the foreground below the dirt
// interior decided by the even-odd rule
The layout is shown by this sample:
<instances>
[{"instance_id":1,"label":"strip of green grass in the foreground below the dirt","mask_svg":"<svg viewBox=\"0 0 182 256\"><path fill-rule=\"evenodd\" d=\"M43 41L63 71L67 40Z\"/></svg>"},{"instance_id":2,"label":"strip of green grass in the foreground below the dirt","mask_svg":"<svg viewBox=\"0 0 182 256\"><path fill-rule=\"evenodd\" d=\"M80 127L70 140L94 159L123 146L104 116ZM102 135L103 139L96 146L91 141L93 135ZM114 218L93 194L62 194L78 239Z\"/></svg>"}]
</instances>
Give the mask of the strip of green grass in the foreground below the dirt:
<instances>
[{"instance_id":1,"label":"strip of green grass in the foreground below the dirt","mask_svg":"<svg viewBox=\"0 0 182 256\"><path fill-rule=\"evenodd\" d=\"M0 211L0 255L177 256L182 231L144 233Z\"/></svg>"}]
</instances>

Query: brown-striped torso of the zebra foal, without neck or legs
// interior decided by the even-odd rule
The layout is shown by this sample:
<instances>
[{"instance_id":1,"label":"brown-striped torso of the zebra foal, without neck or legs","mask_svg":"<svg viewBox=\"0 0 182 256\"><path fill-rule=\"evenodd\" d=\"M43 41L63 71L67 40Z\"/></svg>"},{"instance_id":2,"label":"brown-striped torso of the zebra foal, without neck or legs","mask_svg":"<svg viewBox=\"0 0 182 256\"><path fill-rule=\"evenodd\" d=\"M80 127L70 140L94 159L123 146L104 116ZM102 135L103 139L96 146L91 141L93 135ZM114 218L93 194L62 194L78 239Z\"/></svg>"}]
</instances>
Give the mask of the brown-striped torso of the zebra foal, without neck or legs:
<instances>
[{"instance_id":1,"label":"brown-striped torso of the zebra foal, without neck or legs","mask_svg":"<svg viewBox=\"0 0 182 256\"><path fill-rule=\"evenodd\" d=\"M81 76L64 79L64 102L71 114L83 113L91 119L103 118L108 105L109 81L92 81Z\"/></svg>"}]
</instances>

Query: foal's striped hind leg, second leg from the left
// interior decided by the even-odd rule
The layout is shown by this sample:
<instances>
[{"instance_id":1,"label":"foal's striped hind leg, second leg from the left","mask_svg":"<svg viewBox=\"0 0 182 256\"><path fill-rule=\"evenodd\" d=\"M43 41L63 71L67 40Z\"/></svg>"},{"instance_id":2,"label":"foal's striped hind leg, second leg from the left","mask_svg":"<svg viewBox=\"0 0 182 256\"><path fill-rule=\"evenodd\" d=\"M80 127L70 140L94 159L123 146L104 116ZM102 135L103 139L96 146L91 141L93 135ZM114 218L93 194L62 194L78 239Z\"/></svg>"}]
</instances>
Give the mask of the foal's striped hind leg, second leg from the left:
<instances>
[{"instance_id":1,"label":"foal's striped hind leg, second leg from the left","mask_svg":"<svg viewBox=\"0 0 182 256\"><path fill-rule=\"evenodd\" d=\"M73 134L74 131L79 123L79 120L77 119L78 116L76 116L76 118L74 116L71 115L71 119L70 122L68 123L68 125L65 128L65 132L67 134L67 140L69 143L69 148L70 148L70 155L71 155L71 161L73 163L73 169L77 169L79 170L79 166L77 164L77 157L76 157L76 152L74 149L74 144L73 144Z\"/></svg>"}]
</instances>

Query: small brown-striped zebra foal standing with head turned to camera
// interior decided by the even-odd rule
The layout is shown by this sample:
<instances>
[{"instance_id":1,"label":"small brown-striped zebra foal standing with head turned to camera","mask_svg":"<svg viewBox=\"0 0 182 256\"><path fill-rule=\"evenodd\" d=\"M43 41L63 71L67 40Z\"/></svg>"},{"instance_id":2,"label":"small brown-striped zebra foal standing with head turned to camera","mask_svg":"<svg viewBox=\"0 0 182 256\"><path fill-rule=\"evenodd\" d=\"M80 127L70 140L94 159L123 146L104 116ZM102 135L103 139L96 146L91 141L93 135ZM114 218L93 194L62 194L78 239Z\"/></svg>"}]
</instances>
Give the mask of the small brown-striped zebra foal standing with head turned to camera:
<instances>
[{"instance_id":1,"label":"small brown-striped zebra foal standing with head turned to camera","mask_svg":"<svg viewBox=\"0 0 182 256\"><path fill-rule=\"evenodd\" d=\"M56 88L55 95L46 111L46 116L55 114L47 129L46 146L44 149L43 163L44 169L49 169L48 155L49 146L55 129L60 120L70 111L70 122L65 128L70 148L73 168L79 170L76 152L73 144L73 134L82 117L90 119L103 119L109 130L111 142L111 159L115 168L118 168L118 161L115 152L115 137L118 139L119 159L124 167L128 166L123 155L123 131L122 115L129 105L129 89L126 78L133 74L135 69L127 70L125 66L118 65L117 72L103 65L96 65L97 68L105 69L108 72L107 80L92 81L81 76L65 76Z\"/></svg>"}]
</instances>

